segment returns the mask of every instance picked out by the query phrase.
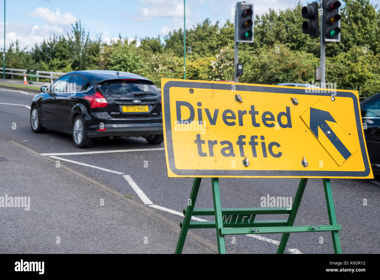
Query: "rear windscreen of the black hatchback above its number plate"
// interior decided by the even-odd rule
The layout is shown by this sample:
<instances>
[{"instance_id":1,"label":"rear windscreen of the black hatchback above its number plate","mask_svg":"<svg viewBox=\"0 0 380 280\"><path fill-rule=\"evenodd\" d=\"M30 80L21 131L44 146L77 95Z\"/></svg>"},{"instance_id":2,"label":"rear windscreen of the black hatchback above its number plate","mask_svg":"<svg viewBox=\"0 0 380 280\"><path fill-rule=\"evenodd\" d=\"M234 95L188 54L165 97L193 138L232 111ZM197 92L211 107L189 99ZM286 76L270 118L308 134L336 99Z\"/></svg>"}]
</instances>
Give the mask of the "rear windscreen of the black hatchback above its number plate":
<instances>
[{"instance_id":1,"label":"rear windscreen of the black hatchback above its number plate","mask_svg":"<svg viewBox=\"0 0 380 280\"><path fill-rule=\"evenodd\" d=\"M98 87L108 96L134 97L159 94L157 87L144 80L110 80L101 82Z\"/></svg>"}]
</instances>

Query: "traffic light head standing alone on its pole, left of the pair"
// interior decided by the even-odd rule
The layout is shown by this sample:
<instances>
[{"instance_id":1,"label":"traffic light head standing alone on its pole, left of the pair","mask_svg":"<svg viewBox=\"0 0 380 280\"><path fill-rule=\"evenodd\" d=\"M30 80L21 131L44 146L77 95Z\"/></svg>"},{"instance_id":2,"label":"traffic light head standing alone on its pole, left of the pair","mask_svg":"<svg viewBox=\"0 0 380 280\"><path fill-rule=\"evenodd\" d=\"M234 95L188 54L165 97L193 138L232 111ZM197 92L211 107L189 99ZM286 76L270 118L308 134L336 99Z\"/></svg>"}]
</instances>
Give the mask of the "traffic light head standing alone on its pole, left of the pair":
<instances>
[{"instance_id":1,"label":"traffic light head standing alone on its pole, left of the pair","mask_svg":"<svg viewBox=\"0 0 380 280\"><path fill-rule=\"evenodd\" d=\"M253 4L236 3L235 41L253 43Z\"/></svg>"}]
</instances>

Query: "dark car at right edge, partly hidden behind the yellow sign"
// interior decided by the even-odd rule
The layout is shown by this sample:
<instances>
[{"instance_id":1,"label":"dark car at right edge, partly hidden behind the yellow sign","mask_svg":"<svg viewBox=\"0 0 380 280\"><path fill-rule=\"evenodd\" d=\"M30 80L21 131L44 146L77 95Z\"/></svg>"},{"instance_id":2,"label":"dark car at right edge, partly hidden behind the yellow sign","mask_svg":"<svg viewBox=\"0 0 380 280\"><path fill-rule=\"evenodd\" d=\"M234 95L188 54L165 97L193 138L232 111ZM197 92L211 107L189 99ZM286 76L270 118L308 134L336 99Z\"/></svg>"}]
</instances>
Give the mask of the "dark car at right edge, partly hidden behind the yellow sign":
<instances>
[{"instance_id":1,"label":"dark car at right edge, partly hidden behind the yellow sign","mask_svg":"<svg viewBox=\"0 0 380 280\"><path fill-rule=\"evenodd\" d=\"M380 175L380 93L360 103L372 171Z\"/></svg>"}]
</instances>

